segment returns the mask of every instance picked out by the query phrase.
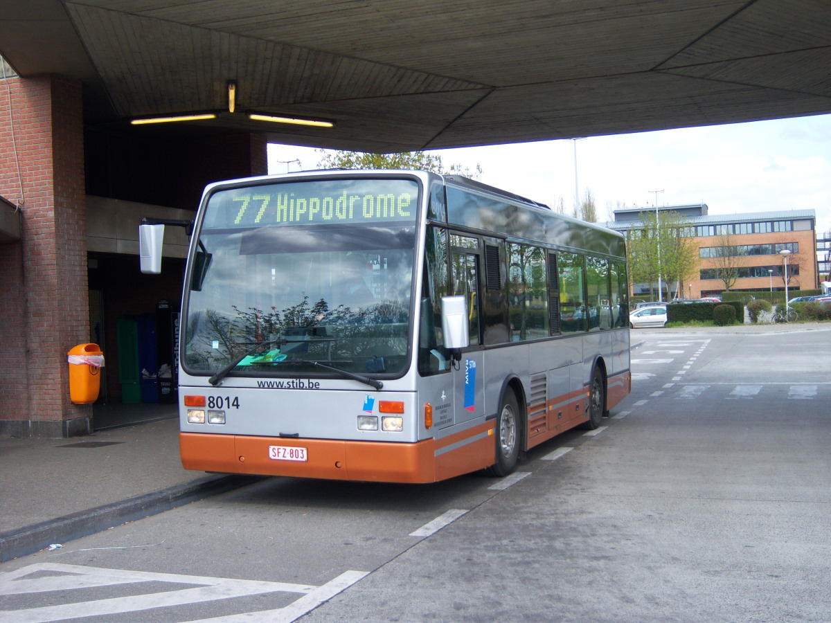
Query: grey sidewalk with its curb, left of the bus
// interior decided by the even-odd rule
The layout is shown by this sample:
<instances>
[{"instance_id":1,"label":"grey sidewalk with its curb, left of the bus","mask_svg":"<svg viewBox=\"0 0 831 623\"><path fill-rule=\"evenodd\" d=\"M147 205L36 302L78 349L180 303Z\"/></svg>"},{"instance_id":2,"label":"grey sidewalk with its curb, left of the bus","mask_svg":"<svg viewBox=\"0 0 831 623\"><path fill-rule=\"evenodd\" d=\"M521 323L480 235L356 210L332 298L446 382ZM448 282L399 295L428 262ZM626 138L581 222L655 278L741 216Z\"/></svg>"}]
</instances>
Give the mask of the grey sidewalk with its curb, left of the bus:
<instances>
[{"instance_id":1,"label":"grey sidewalk with its curb, left of the bus","mask_svg":"<svg viewBox=\"0 0 831 623\"><path fill-rule=\"evenodd\" d=\"M178 419L0 438L0 562L251 482L182 468Z\"/></svg>"}]
</instances>

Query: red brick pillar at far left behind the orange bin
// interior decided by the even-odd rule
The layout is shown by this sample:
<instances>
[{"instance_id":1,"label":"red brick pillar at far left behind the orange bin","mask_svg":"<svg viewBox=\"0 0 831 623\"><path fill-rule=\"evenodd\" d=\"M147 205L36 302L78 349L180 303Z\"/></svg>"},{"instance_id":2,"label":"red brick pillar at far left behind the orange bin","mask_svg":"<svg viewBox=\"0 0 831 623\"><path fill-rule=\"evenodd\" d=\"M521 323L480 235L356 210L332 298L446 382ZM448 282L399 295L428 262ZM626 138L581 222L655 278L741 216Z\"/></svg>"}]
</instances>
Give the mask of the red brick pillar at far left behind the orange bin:
<instances>
[{"instance_id":1,"label":"red brick pillar at far left behind the orange bin","mask_svg":"<svg viewBox=\"0 0 831 623\"><path fill-rule=\"evenodd\" d=\"M66 351L89 339L81 86L12 78L0 102L0 194L22 200L22 241L0 248L0 424L63 436L91 418L69 400L66 365Z\"/></svg>"}]
</instances>

